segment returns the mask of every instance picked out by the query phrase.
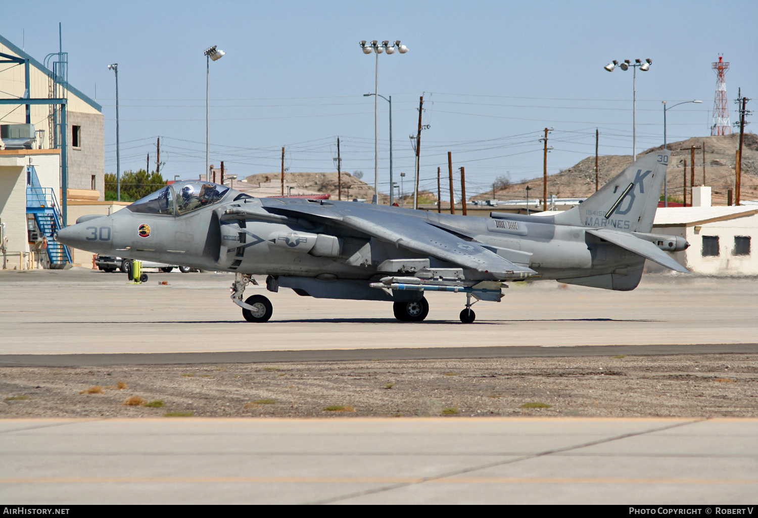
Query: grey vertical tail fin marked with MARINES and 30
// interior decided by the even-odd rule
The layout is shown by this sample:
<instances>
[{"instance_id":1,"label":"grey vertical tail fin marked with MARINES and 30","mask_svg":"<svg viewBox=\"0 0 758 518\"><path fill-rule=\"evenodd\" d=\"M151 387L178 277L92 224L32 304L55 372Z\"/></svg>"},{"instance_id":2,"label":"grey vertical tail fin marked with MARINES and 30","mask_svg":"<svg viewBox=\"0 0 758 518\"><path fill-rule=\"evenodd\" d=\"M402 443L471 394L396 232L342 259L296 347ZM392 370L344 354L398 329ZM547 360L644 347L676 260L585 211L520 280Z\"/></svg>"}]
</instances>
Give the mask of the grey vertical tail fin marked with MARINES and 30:
<instances>
[{"instance_id":1,"label":"grey vertical tail fin marked with MARINES and 30","mask_svg":"<svg viewBox=\"0 0 758 518\"><path fill-rule=\"evenodd\" d=\"M556 214L555 222L650 232L670 157L671 151L655 151L638 158L578 207Z\"/></svg>"}]
</instances>

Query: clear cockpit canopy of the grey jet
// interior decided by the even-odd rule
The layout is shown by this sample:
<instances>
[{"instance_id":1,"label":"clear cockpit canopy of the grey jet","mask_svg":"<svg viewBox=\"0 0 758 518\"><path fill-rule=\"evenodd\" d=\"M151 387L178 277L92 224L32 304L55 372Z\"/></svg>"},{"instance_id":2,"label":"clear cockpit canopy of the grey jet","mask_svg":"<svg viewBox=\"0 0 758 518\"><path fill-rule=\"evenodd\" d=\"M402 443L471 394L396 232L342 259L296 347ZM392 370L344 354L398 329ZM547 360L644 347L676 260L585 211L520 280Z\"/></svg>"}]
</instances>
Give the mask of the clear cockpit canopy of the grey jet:
<instances>
[{"instance_id":1,"label":"clear cockpit canopy of the grey jet","mask_svg":"<svg viewBox=\"0 0 758 518\"><path fill-rule=\"evenodd\" d=\"M181 216L218 203L229 188L208 182L175 182L127 206L141 214Z\"/></svg>"}]
</instances>

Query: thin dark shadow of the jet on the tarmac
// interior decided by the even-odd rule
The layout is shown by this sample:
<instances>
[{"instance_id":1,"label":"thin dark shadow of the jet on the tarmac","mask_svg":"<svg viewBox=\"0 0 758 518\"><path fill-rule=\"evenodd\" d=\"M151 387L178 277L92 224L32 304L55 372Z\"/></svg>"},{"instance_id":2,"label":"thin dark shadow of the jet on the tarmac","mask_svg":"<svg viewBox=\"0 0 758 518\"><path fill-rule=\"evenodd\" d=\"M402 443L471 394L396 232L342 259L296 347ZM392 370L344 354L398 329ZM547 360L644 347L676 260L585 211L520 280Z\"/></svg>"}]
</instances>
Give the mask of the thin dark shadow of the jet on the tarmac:
<instances>
[{"instance_id":1,"label":"thin dark shadow of the jet on the tarmac","mask_svg":"<svg viewBox=\"0 0 758 518\"><path fill-rule=\"evenodd\" d=\"M301 318L297 320L270 320L271 323L406 323L406 324L456 324L457 320L424 320L423 322L400 322L394 318ZM642 320L642 319L615 319L615 318L550 318L550 319L521 319L521 320L477 320L478 325L499 326L503 324L512 324L519 322L662 322L662 320ZM245 320L121 320L121 321L86 321L77 322L48 322L49 324L150 324L150 323L223 323L223 324L245 324Z\"/></svg>"}]
</instances>

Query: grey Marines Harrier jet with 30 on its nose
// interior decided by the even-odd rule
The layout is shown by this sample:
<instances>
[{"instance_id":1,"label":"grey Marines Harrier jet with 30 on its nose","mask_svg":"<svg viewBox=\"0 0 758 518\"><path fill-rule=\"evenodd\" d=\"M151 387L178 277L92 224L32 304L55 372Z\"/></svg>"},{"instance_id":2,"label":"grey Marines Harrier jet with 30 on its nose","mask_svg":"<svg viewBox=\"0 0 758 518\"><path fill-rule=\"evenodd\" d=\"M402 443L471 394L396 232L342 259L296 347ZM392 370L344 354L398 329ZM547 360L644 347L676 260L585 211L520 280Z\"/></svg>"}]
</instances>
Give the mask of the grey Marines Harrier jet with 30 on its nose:
<instances>
[{"instance_id":1,"label":"grey Marines Harrier jet with 30 on its nose","mask_svg":"<svg viewBox=\"0 0 758 518\"><path fill-rule=\"evenodd\" d=\"M83 216L58 241L143 261L236 273L232 300L249 322L271 318L263 295L243 299L253 275L271 292L387 301L395 317L424 320L424 292L499 302L506 282L556 279L595 288L637 287L645 259L687 272L666 251L681 237L650 233L669 151L645 155L569 211L490 217L352 201L254 198L215 183L177 182L111 216ZM472 300L473 299L473 300Z\"/></svg>"}]
</instances>

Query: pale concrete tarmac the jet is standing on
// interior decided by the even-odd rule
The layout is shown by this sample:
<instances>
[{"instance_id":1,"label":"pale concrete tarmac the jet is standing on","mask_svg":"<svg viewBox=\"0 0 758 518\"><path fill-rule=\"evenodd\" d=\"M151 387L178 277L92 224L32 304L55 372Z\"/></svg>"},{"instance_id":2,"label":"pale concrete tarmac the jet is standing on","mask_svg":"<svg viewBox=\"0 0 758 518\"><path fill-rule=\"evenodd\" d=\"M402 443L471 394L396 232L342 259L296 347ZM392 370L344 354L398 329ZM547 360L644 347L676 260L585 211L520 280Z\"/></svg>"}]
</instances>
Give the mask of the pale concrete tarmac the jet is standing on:
<instances>
[{"instance_id":1,"label":"pale concrete tarmac the jet is standing on","mask_svg":"<svg viewBox=\"0 0 758 518\"><path fill-rule=\"evenodd\" d=\"M274 316L243 320L230 274L121 273L85 268L0 272L0 354L200 353L584 345L751 345L758 337L756 279L646 275L633 292L554 281L511 282L500 303L429 293L423 323L394 319L391 304L267 295ZM159 285L160 281L168 285ZM263 279L258 279L262 282ZM751 349L754 351L754 349ZM702 352L702 351L700 351ZM713 352L713 351L712 351Z\"/></svg>"}]
</instances>

